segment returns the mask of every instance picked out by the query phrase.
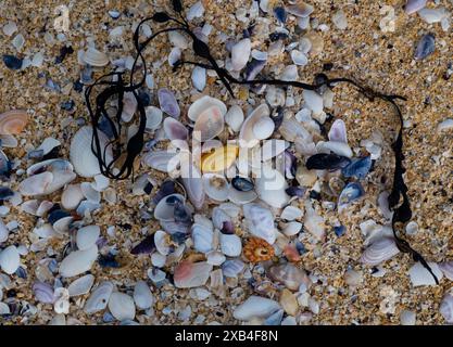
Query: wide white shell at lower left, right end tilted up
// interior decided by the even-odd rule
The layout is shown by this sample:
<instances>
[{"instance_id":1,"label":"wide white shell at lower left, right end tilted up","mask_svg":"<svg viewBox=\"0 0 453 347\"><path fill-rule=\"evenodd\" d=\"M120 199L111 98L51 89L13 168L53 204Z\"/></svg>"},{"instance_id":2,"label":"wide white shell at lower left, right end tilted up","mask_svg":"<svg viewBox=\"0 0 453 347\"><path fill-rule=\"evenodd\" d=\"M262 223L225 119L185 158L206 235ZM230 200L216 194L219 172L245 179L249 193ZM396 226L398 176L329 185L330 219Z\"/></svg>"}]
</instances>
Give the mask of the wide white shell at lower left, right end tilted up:
<instances>
[{"instance_id":1,"label":"wide white shell at lower left, right end tilted up","mask_svg":"<svg viewBox=\"0 0 453 347\"><path fill-rule=\"evenodd\" d=\"M93 245L85 250L75 250L60 264L60 274L72 278L91 269L98 258L98 246Z\"/></svg>"}]
</instances>

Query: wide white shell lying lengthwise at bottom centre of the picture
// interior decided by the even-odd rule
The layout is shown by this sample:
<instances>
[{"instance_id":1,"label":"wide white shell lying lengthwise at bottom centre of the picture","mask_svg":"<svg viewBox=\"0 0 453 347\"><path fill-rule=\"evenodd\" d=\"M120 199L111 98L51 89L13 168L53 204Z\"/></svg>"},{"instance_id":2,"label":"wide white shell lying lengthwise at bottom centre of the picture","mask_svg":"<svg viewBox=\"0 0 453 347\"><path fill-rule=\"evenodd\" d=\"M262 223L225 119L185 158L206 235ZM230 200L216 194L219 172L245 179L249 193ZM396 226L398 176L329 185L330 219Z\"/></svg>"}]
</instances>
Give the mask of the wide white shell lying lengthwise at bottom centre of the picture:
<instances>
[{"instance_id":1,"label":"wide white shell lying lengthwise at bottom centre of the picture","mask_svg":"<svg viewBox=\"0 0 453 347\"><path fill-rule=\"evenodd\" d=\"M232 317L241 321L250 321L254 318L263 319L269 317L280 308L280 305L275 300L252 295L235 308Z\"/></svg>"}]
</instances>

